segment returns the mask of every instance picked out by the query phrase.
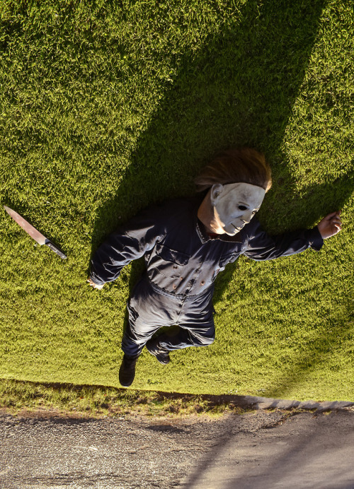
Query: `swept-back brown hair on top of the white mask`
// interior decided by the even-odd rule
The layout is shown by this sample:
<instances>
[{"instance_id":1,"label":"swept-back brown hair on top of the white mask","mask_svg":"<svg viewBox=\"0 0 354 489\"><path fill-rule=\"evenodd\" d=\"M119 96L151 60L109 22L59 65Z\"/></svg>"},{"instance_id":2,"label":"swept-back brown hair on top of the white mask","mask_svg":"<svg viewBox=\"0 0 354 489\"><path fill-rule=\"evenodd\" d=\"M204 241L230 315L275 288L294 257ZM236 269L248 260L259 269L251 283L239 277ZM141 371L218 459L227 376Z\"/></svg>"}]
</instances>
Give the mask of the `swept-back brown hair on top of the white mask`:
<instances>
[{"instance_id":1,"label":"swept-back brown hair on top of the white mask","mask_svg":"<svg viewBox=\"0 0 354 489\"><path fill-rule=\"evenodd\" d=\"M251 148L233 148L219 153L195 178L197 191L214 184L248 183L268 192L272 186L271 170L263 153Z\"/></svg>"}]
</instances>

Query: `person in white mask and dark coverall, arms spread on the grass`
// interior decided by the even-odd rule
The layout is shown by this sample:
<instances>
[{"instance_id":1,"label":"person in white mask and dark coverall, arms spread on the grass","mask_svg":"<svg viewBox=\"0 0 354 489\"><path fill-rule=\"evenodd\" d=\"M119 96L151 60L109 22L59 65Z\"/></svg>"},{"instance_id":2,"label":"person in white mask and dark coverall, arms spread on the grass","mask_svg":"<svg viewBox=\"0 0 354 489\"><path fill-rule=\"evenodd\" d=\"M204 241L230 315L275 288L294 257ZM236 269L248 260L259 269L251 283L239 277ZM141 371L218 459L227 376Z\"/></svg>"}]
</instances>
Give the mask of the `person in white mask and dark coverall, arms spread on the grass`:
<instances>
[{"instance_id":1,"label":"person in white mask and dark coverall, arms spread on the grass","mask_svg":"<svg viewBox=\"0 0 354 489\"><path fill-rule=\"evenodd\" d=\"M271 186L270 167L249 148L224 151L195 179L200 194L151 206L118 228L92 259L90 285L101 289L123 266L144 255L147 270L128 302L119 379L135 377L142 348L166 365L169 352L207 346L215 338L212 294L219 271L244 254L254 260L287 257L341 230L340 212L316 228L269 236L253 216ZM162 326L175 334L154 336ZM154 336L154 337L153 337Z\"/></svg>"}]
</instances>

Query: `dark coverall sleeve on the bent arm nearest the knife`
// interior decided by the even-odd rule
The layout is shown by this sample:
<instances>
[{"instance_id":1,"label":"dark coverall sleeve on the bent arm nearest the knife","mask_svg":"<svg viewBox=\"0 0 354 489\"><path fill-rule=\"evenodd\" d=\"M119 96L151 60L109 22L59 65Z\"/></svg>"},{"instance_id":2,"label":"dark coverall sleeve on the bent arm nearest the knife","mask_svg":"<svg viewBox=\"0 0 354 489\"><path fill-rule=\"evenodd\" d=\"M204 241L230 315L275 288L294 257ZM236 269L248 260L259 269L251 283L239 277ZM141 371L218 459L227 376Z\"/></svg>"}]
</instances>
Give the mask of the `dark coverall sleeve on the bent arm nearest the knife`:
<instances>
[{"instance_id":1,"label":"dark coverall sleeve on the bent arm nearest the knife","mask_svg":"<svg viewBox=\"0 0 354 489\"><path fill-rule=\"evenodd\" d=\"M142 257L164 234L159 206L144 209L98 247L91 260L91 280L98 285L114 281L123 266Z\"/></svg>"}]
</instances>

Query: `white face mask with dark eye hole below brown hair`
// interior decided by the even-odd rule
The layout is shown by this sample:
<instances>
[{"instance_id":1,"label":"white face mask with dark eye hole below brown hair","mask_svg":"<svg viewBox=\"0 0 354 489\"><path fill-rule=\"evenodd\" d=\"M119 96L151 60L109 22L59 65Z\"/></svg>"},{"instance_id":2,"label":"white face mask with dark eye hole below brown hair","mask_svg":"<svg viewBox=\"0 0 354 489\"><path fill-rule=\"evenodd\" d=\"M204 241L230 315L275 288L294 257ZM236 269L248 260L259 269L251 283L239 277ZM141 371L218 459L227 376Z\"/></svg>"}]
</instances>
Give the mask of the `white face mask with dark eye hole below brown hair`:
<instances>
[{"instance_id":1,"label":"white face mask with dark eye hole below brown hair","mask_svg":"<svg viewBox=\"0 0 354 489\"><path fill-rule=\"evenodd\" d=\"M233 236L261 207L265 190L246 183L215 184L210 191L210 201L214 208L212 228L217 234Z\"/></svg>"}]
</instances>

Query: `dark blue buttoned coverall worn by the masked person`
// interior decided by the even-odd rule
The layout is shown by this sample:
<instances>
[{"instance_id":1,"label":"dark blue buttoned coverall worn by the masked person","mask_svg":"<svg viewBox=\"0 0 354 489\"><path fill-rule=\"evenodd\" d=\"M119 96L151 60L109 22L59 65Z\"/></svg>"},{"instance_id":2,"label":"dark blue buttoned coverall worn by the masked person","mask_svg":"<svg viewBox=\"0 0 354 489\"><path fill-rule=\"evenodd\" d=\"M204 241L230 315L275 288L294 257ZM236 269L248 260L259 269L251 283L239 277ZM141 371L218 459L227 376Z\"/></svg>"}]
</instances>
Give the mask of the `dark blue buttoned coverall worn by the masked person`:
<instances>
[{"instance_id":1,"label":"dark blue buttoned coverall worn by the masked person","mask_svg":"<svg viewBox=\"0 0 354 489\"><path fill-rule=\"evenodd\" d=\"M139 355L161 326L177 334L159 336L165 350L207 346L214 341L212 294L219 271L244 254L254 260L287 257L309 247L319 251L318 228L269 236L256 218L234 236L210 237L198 220L204 198L174 199L144 209L118 228L96 251L91 280L114 281L130 261L147 266L128 302L129 324L122 338L126 355Z\"/></svg>"}]
</instances>

